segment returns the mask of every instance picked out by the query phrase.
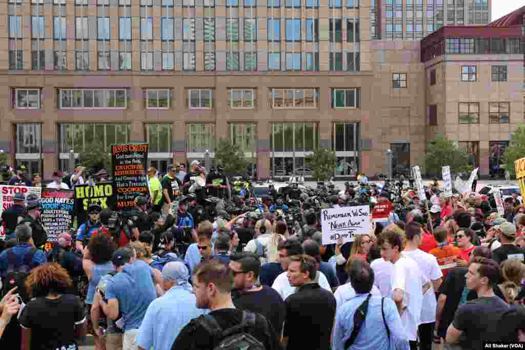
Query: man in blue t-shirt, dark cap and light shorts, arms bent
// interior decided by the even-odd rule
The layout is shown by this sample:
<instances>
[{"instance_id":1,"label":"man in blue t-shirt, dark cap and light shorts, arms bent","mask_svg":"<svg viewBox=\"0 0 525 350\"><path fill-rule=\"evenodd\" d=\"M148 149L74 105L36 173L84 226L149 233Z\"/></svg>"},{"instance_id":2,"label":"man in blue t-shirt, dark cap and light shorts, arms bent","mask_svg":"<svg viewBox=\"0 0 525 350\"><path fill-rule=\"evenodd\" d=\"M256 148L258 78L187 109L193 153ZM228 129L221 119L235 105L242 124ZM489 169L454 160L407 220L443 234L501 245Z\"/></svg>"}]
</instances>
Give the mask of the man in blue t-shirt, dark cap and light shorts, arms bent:
<instances>
[{"instance_id":1,"label":"man in blue t-shirt, dark cap and light shorts, arms bent","mask_svg":"<svg viewBox=\"0 0 525 350\"><path fill-rule=\"evenodd\" d=\"M106 294L100 296L99 303L111 320L122 315L122 348L137 349L135 338L139 327L148 306L157 296L151 268L144 261L137 260L137 253L129 247L114 252L112 261L118 273L108 280Z\"/></svg>"}]
</instances>

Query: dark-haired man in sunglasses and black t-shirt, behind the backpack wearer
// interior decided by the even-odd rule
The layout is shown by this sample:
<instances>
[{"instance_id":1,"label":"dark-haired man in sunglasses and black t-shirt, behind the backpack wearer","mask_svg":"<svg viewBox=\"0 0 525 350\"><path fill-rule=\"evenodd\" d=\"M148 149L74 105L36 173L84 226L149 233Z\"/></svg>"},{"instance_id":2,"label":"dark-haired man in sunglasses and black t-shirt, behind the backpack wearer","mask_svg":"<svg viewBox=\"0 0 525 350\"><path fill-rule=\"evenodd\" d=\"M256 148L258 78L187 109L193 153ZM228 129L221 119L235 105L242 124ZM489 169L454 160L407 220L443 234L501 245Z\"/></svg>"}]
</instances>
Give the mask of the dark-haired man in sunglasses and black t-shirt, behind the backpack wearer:
<instances>
[{"instance_id":1,"label":"dark-haired man in sunglasses and black t-shirt, behind the backpack wearer","mask_svg":"<svg viewBox=\"0 0 525 350\"><path fill-rule=\"evenodd\" d=\"M268 285L256 287L261 263L255 253L243 251L230 256L229 268L232 270L234 304L237 309L259 313L281 334L285 322L285 302L281 295Z\"/></svg>"}]
</instances>

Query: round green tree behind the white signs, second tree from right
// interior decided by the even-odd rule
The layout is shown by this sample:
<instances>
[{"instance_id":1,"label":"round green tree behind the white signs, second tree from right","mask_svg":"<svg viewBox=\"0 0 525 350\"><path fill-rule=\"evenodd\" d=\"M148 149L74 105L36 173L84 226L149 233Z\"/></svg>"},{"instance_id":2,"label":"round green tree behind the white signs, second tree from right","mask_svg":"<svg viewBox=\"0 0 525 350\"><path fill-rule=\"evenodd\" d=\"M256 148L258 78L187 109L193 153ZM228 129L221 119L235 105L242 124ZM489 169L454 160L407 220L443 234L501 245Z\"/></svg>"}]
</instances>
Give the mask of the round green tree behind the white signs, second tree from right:
<instances>
[{"instance_id":1,"label":"round green tree behind the white signs, second tree from right","mask_svg":"<svg viewBox=\"0 0 525 350\"><path fill-rule=\"evenodd\" d=\"M471 170L466 150L461 149L451 140L437 139L427 149L425 156L426 174L441 177L442 167L445 165L450 166L451 173Z\"/></svg>"}]
</instances>

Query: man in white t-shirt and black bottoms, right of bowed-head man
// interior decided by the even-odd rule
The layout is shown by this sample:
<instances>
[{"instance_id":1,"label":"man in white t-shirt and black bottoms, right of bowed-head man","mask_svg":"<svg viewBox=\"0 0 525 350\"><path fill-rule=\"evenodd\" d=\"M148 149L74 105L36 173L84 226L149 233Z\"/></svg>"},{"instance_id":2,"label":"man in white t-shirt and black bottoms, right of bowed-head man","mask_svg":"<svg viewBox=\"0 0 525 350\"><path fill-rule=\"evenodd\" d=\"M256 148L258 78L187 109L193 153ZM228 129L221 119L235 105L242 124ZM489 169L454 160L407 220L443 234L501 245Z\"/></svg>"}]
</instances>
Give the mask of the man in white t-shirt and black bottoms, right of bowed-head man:
<instances>
[{"instance_id":1,"label":"man in white t-shirt and black bottoms, right of bowed-head man","mask_svg":"<svg viewBox=\"0 0 525 350\"><path fill-rule=\"evenodd\" d=\"M432 350L434 326L436 323L436 294L442 282L443 273L439 268L437 259L432 254L425 253L418 247L423 242L423 228L415 221L408 222L405 226L406 243L403 255L417 263L419 270L428 281L423 295L423 308L419 325L419 349Z\"/></svg>"}]
</instances>

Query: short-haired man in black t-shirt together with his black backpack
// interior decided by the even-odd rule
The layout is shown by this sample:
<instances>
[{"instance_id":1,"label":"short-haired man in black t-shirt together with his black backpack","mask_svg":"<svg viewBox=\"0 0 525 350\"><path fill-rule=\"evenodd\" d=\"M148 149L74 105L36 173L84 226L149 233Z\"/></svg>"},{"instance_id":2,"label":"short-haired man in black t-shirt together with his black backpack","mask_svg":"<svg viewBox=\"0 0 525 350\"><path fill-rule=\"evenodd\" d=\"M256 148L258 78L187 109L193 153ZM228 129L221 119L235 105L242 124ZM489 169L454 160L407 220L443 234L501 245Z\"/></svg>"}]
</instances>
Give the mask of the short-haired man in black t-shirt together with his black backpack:
<instances>
[{"instance_id":1,"label":"short-haired man in black t-shirt together with his black backpack","mask_svg":"<svg viewBox=\"0 0 525 350\"><path fill-rule=\"evenodd\" d=\"M193 274L193 292L198 309L209 309L210 313L188 323L175 339L172 350L280 349L277 334L264 316L235 308L232 272L218 260L199 264ZM234 272L237 273L244 271Z\"/></svg>"}]
</instances>

